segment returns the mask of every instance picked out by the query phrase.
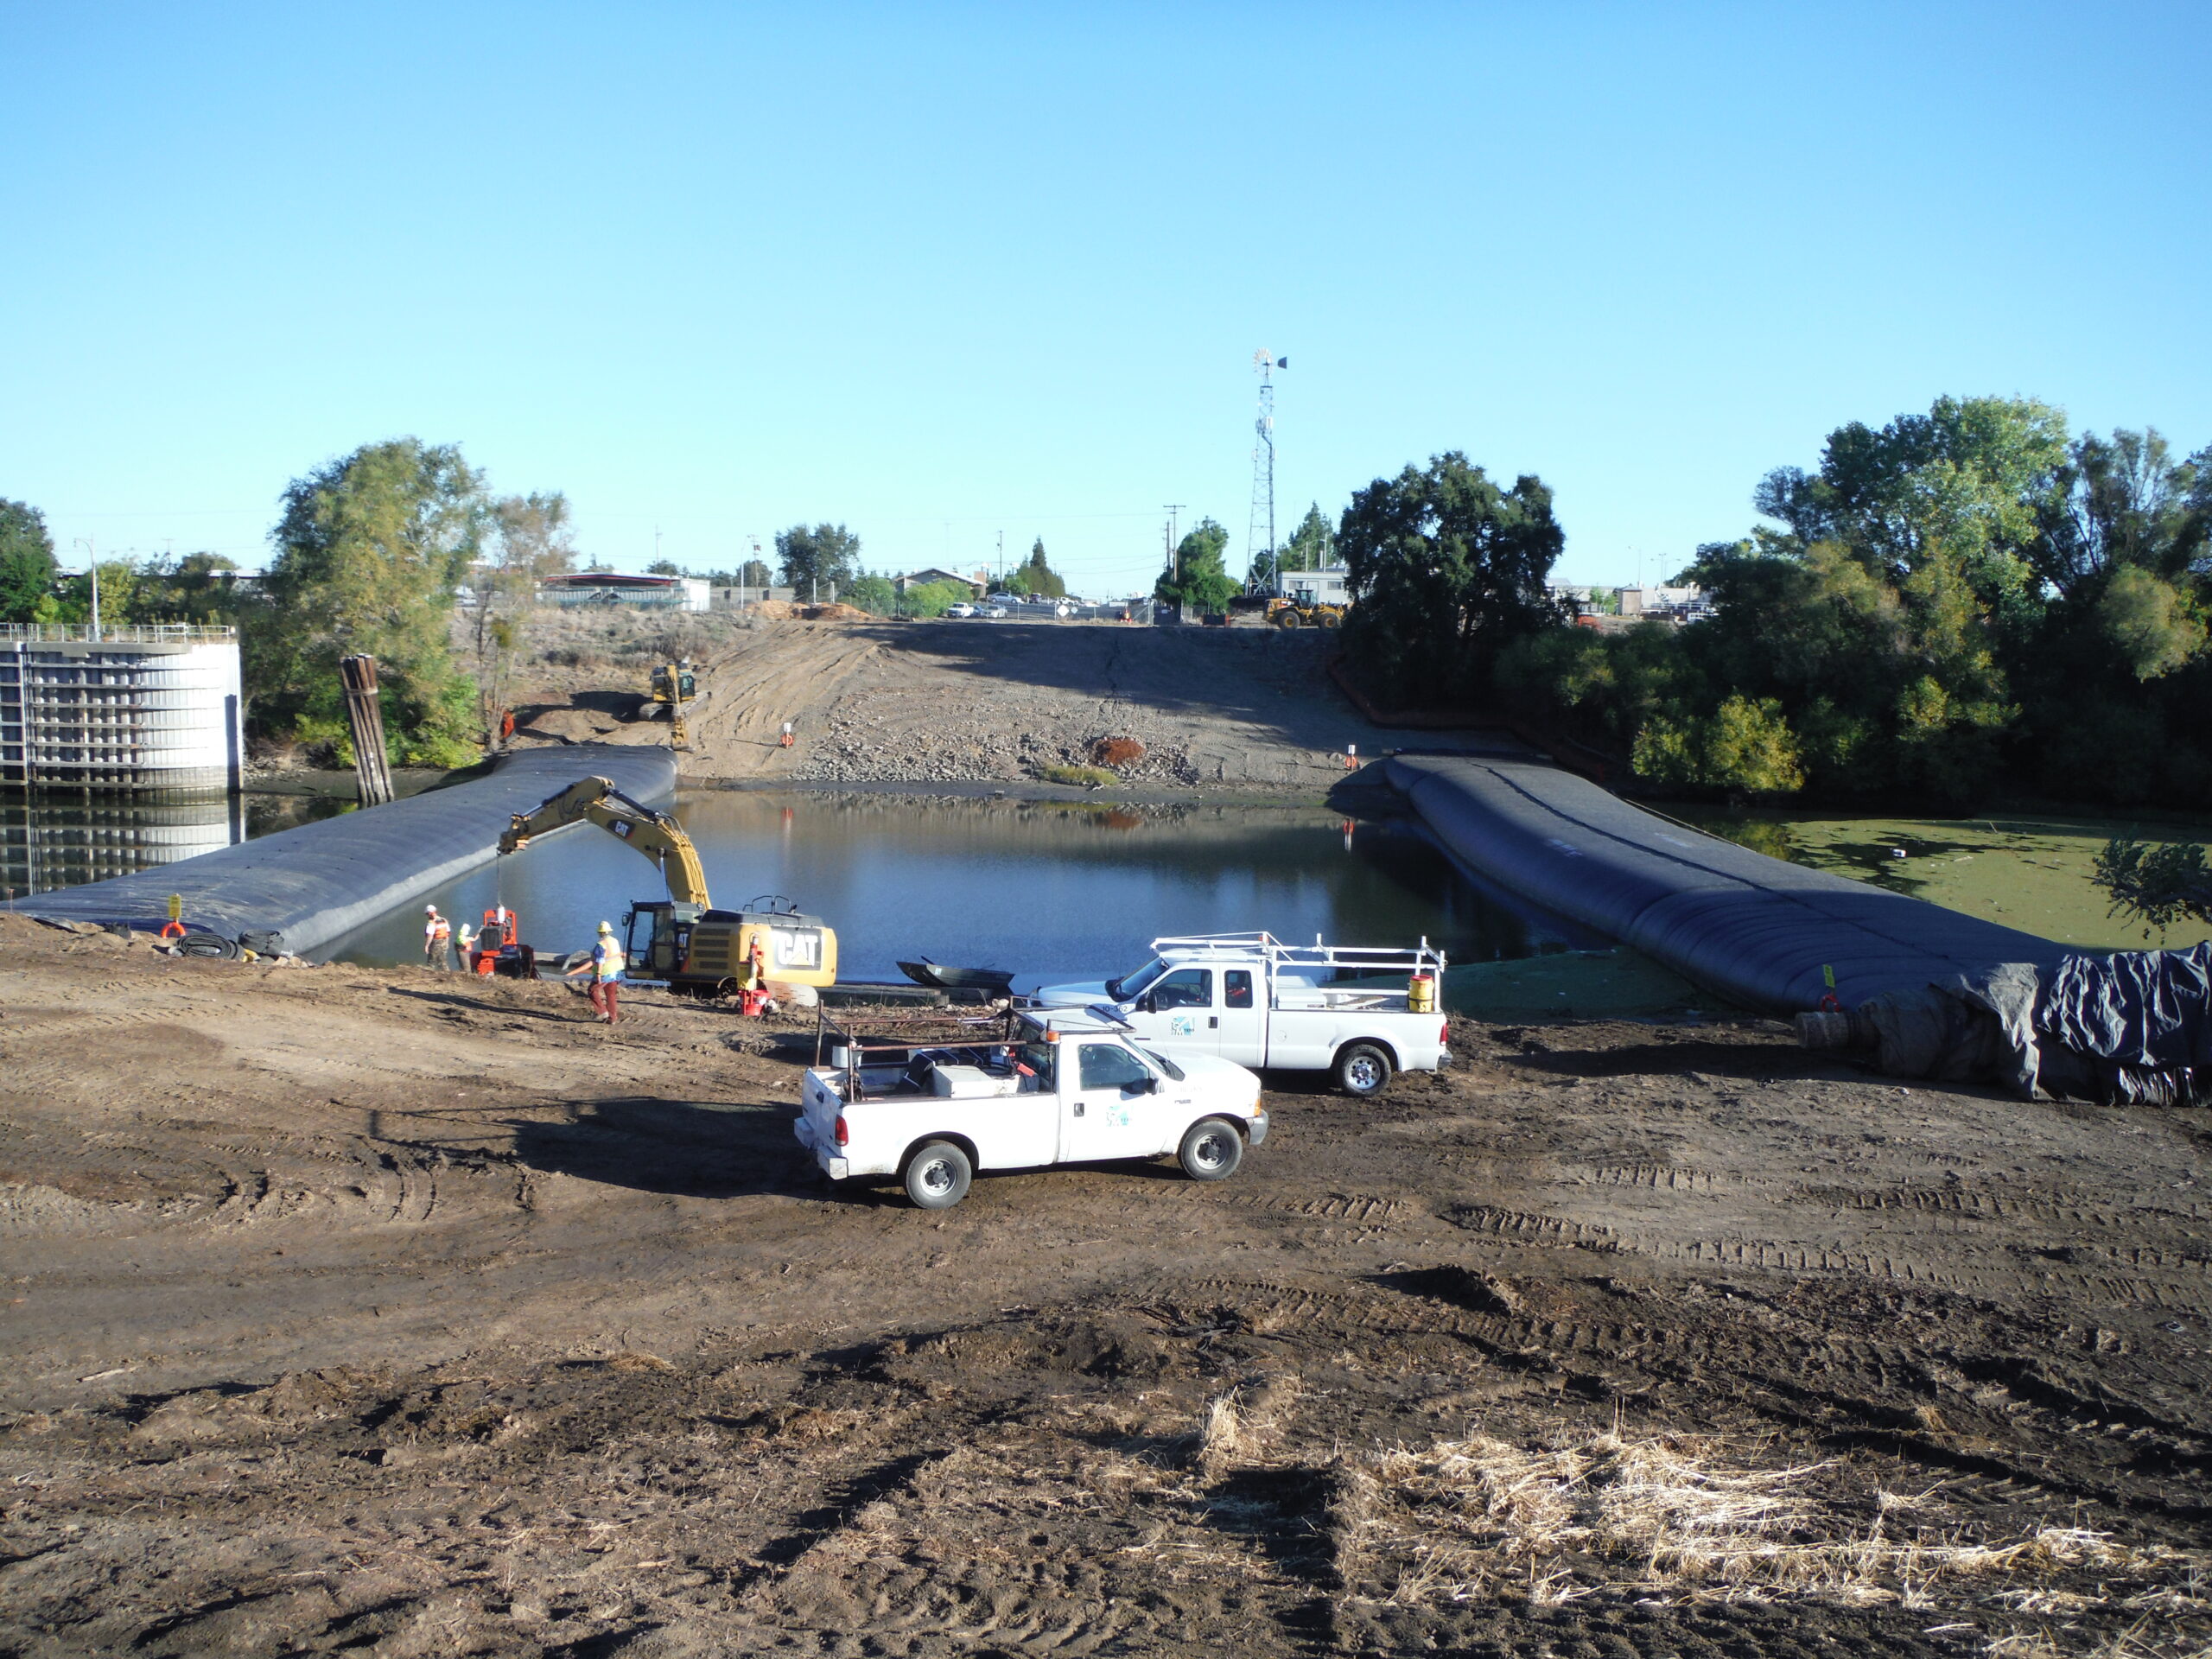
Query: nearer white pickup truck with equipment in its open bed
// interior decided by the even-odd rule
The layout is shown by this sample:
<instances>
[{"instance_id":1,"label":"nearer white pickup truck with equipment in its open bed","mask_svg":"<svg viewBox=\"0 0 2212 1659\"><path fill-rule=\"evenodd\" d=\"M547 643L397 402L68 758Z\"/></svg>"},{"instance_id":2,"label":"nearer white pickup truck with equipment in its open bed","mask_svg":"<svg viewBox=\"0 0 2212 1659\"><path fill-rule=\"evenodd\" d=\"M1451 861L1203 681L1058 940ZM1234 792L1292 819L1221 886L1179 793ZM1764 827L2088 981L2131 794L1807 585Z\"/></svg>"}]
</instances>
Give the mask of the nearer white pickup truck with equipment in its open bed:
<instances>
[{"instance_id":1,"label":"nearer white pickup truck with equipment in its open bed","mask_svg":"<svg viewBox=\"0 0 2212 1659\"><path fill-rule=\"evenodd\" d=\"M794 1133L832 1181L898 1177L925 1210L978 1170L1181 1159L1192 1181L1237 1172L1267 1139L1259 1077L1212 1055L1161 1053L1084 1011L1024 1009L949 1035L825 1024Z\"/></svg>"}]
</instances>

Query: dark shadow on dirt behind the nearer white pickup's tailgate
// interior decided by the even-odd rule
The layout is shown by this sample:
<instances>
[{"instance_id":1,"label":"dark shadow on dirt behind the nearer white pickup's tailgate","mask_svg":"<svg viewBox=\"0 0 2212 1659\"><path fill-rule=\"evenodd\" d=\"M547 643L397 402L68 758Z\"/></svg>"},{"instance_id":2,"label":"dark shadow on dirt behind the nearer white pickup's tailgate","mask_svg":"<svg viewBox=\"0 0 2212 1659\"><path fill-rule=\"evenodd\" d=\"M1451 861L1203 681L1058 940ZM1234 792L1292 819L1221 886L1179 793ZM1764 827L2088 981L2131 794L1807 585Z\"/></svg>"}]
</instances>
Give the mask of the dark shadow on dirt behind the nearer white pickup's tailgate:
<instances>
[{"instance_id":1,"label":"dark shadow on dirt behind the nearer white pickup's tailgate","mask_svg":"<svg viewBox=\"0 0 2212 1659\"><path fill-rule=\"evenodd\" d=\"M703 1104L633 1095L577 1108L564 1124L518 1121L515 1157L546 1175L602 1186L737 1199L834 1197L792 1139L785 1104ZM854 1194L865 1201L867 1194Z\"/></svg>"}]
</instances>

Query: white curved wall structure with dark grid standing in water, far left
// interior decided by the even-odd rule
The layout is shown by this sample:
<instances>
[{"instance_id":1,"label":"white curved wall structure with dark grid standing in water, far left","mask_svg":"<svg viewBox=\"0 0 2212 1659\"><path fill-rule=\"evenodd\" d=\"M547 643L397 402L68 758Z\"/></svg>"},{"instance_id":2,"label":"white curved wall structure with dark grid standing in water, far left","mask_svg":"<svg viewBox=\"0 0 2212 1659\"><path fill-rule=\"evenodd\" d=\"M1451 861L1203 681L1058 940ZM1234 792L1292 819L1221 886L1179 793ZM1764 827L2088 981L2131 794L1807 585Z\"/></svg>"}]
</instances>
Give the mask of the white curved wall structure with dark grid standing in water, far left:
<instances>
[{"instance_id":1,"label":"white curved wall structure with dark grid standing in water, far left","mask_svg":"<svg viewBox=\"0 0 2212 1659\"><path fill-rule=\"evenodd\" d=\"M237 790L237 628L0 628L0 779L100 790Z\"/></svg>"}]
</instances>

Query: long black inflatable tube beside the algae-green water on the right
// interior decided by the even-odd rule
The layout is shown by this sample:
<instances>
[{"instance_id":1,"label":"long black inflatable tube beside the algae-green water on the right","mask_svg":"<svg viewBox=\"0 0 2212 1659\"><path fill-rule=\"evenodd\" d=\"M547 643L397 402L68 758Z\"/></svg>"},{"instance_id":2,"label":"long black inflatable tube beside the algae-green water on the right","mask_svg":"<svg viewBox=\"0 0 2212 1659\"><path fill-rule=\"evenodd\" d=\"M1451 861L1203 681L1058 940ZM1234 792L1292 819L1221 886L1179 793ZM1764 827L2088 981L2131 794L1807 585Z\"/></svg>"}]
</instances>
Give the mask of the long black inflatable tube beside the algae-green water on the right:
<instances>
[{"instance_id":1,"label":"long black inflatable tube beside the algae-green water on the right","mask_svg":"<svg viewBox=\"0 0 2212 1659\"><path fill-rule=\"evenodd\" d=\"M2066 947L1920 898L1767 858L1639 812L1553 765L1396 754L1389 785L1500 887L1765 1013L1856 1009L1997 962L2046 975Z\"/></svg>"}]
</instances>

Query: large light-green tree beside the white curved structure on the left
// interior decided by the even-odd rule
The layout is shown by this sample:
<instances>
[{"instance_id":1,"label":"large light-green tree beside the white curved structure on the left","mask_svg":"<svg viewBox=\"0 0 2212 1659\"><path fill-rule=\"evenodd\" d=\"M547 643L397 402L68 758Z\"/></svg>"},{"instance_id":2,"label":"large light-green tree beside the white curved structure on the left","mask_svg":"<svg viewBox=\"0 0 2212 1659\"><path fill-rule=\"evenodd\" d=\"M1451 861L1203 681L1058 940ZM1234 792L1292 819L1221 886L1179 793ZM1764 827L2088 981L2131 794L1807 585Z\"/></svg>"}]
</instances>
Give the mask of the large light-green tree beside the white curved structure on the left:
<instances>
[{"instance_id":1,"label":"large light-green tree beside the white curved structure on the left","mask_svg":"<svg viewBox=\"0 0 2212 1659\"><path fill-rule=\"evenodd\" d=\"M257 723L347 748L338 657L369 653L392 759L473 759L476 692L447 617L489 522L482 476L453 445L363 445L292 480L246 633Z\"/></svg>"}]
</instances>

